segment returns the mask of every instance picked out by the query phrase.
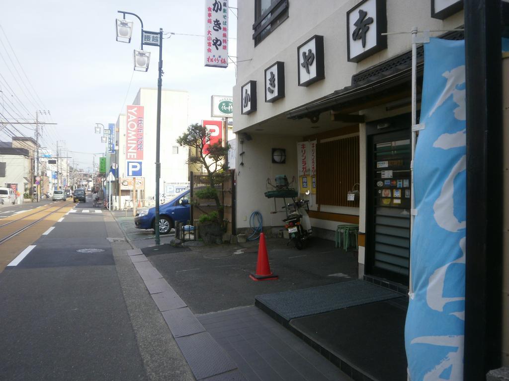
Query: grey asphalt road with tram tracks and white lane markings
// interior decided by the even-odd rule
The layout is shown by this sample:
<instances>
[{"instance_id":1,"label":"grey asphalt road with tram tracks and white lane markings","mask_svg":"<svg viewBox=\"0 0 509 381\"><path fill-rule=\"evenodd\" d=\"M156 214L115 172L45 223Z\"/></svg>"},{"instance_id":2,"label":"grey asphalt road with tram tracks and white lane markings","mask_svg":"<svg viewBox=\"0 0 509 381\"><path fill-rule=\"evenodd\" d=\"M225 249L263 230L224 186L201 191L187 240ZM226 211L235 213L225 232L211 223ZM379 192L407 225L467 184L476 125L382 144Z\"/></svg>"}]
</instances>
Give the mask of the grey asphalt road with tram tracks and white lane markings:
<instances>
[{"instance_id":1,"label":"grey asphalt road with tram tracks and white lane markings","mask_svg":"<svg viewBox=\"0 0 509 381\"><path fill-rule=\"evenodd\" d=\"M91 206L0 209L0 239L42 218L0 244L0 379L194 379L117 223Z\"/></svg>"}]
</instances>

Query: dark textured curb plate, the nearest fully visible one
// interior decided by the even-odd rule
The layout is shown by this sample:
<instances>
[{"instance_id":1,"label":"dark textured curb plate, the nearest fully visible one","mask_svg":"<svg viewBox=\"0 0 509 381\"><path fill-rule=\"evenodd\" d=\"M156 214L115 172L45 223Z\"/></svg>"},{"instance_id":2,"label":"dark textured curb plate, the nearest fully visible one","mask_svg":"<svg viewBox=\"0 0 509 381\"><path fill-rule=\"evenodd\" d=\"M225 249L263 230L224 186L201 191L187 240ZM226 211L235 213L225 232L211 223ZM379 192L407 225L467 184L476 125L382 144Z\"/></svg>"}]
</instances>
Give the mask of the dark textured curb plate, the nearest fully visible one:
<instances>
[{"instance_id":1,"label":"dark textured curb plate, the nearest fully visible one","mask_svg":"<svg viewBox=\"0 0 509 381\"><path fill-rule=\"evenodd\" d=\"M237 369L227 353L208 332L177 337L175 340L198 380Z\"/></svg>"}]
</instances>

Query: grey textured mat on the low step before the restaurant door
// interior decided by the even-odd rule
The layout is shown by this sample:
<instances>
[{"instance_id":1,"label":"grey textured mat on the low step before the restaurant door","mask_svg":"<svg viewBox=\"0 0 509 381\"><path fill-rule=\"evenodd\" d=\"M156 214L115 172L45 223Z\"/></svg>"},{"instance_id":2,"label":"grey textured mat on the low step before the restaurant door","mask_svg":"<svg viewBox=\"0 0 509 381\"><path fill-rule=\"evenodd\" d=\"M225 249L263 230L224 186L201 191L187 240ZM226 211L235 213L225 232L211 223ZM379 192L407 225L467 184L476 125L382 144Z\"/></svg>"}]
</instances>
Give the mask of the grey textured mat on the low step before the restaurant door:
<instances>
[{"instance_id":1,"label":"grey textured mat on the low step before the restaurant door","mask_svg":"<svg viewBox=\"0 0 509 381\"><path fill-rule=\"evenodd\" d=\"M256 305L269 309L287 322L347 307L401 297L401 294L363 280L327 284L309 289L254 297Z\"/></svg>"}]
</instances>

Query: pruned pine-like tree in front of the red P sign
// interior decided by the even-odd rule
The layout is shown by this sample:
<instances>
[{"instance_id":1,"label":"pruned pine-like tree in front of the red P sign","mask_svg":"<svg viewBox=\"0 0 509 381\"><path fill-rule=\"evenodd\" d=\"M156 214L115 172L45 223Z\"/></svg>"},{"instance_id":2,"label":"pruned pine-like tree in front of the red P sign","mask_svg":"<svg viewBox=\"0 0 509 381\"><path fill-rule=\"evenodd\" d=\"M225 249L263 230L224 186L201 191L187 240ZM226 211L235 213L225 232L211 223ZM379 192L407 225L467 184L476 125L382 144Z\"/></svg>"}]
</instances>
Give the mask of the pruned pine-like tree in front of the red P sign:
<instances>
[{"instance_id":1,"label":"pruned pine-like tree in front of the red P sign","mask_svg":"<svg viewBox=\"0 0 509 381\"><path fill-rule=\"evenodd\" d=\"M204 126L199 123L194 123L188 126L186 132L177 138L177 144L186 146L196 152L196 155L190 155L188 164L200 164L205 169L208 178L208 185L204 189L199 189L194 193L194 196L199 199L214 200L217 212L211 212L205 217L208 220L214 221L224 228L224 208L219 199L217 192L217 185L222 183L225 171L228 166L225 163L225 158L228 155L230 145L222 146L222 140L219 139L217 143L209 144L211 133Z\"/></svg>"}]
</instances>

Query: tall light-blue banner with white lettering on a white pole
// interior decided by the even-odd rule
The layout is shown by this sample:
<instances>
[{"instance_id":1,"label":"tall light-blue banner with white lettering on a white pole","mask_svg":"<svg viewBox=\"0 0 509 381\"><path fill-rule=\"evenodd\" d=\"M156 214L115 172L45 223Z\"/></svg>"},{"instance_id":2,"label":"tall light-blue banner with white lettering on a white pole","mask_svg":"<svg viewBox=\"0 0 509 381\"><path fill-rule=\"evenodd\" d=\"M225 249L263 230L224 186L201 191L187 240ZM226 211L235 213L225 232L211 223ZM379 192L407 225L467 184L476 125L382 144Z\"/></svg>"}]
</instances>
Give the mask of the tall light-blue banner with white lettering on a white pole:
<instances>
[{"instance_id":1,"label":"tall light-blue banner with white lettering on a white pole","mask_svg":"<svg viewBox=\"0 0 509 381\"><path fill-rule=\"evenodd\" d=\"M412 381L462 380L465 321L465 43L425 44L405 325Z\"/></svg>"}]
</instances>

